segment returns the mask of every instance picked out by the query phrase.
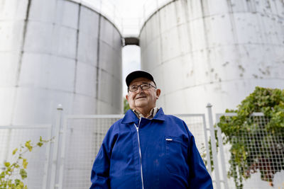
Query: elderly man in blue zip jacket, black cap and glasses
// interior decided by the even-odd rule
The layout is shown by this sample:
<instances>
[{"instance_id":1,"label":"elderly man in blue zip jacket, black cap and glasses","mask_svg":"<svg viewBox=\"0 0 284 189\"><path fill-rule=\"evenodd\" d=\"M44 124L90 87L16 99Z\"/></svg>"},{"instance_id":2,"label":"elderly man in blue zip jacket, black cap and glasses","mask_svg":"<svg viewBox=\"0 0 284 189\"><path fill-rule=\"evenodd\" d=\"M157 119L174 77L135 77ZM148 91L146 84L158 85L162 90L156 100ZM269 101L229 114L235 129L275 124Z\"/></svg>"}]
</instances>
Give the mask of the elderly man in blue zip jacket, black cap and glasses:
<instances>
[{"instance_id":1,"label":"elderly man in blue zip jacket, black cap and glasses","mask_svg":"<svg viewBox=\"0 0 284 189\"><path fill-rule=\"evenodd\" d=\"M92 188L213 188L185 122L155 102L160 89L146 71L126 77L131 110L107 132L92 167Z\"/></svg>"}]
</instances>

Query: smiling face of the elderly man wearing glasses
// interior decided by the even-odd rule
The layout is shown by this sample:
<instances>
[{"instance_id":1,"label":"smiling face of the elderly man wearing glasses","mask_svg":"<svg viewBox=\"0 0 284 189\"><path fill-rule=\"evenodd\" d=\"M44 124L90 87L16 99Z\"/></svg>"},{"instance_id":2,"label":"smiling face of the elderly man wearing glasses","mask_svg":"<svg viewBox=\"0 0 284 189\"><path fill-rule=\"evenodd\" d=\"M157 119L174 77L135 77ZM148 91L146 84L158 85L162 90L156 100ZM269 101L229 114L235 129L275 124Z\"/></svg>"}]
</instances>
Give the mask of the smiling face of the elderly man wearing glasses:
<instances>
[{"instance_id":1,"label":"smiling face of the elderly man wearing glasses","mask_svg":"<svg viewBox=\"0 0 284 189\"><path fill-rule=\"evenodd\" d=\"M139 77L134 79L129 86L141 84L151 84L155 86L153 81ZM137 91L129 91L126 95L126 99L129 102L129 106L131 109L137 110L137 108L142 110L151 110L155 107L155 101L158 100L160 96L160 89L153 88L152 86L146 90L142 90L141 87L138 87Z\"/></svg>"}]
</instances>

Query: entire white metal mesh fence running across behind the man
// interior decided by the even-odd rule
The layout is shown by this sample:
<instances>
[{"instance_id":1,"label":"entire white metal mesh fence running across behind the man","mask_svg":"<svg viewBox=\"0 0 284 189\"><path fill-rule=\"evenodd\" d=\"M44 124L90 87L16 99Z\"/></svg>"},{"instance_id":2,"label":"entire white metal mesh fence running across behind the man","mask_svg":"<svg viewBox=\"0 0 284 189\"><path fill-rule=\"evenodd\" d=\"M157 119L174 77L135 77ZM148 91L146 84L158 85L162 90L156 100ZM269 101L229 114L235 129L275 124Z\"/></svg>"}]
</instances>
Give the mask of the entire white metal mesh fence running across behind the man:
<instances>
[{"instance_id":1,"label":"entire white metal mesh fence running across behind the man","mask_svg":"<svg viewBox=\"0 0 284 189\"><path fill-rule=\"evenodd\" d=\"M222 145L224 135L222 135L219 127L214 127L211 105L208 105L207 108L208 119L206 119L205 114L176 116L187 123L190 132L195 136L197 148L204 161L207 162L207 169L212 175L214 188L234 189L236 188L234 181L232 178L227 178L231 154L229 149L231 146L230 144ZM0 126L0 163L9 160L11 151L27 140L37 141L39 136L45 139L55 136L52 143L28 154L28 179L26 181L28 188L89 188L92 164L102 144L102 139L109 127L123 116L62 115L62 108L58 108L58 117L53 128L50 125ZM217 115L217 121L220 116L222 115ZM234 114L226 114L226 116L234 116ZM263 115L255 116L252 119L255 125L265 125L267 122ZM215 140L215 132L218 141ZM263 130L260 134L262 135L259 136L263 138L266 131ZM284 164L283 137L269 136L265 140L266 142L263 143L263 147L255 147L252 139L257 140L258 137L254 137L253 133L249 135L241 135L240 133L239 136L238 139L250 143L249 150L252 152L258 148L264 154L278 153L278 156L273 156L273 159L266 160L268 164L276 166L259 164L255 173L251 173L251 178L244 181L244 189L284 188L284 172L281 172L279 166L277 166L278 164ZM212 161L209 158L209 140ZM269 153L267 153L268 149L270 150ZM214 164L214 171L211 170L211 162ZM269 185L268 182L261 181L260 171L266 171L264 175L269 175L271 171L274 171L273 173L277 172L273 178L273 186Z\"/></svg>"}]
</instances>

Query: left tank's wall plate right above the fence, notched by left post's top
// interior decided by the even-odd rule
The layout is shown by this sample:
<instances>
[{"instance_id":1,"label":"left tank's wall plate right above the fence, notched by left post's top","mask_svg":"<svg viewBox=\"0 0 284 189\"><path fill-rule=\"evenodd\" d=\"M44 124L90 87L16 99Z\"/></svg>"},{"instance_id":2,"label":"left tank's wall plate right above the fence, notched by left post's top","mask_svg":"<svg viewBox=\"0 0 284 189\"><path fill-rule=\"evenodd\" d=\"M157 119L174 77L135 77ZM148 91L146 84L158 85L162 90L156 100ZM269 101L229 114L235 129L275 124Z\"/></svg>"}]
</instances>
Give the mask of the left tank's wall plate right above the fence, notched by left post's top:
<instances>
[{"instance_id":1,"label":"left tank's wall plate right above the fence, notched by left post's top","mask_svg":"<svg viewBox=\"0 0 284 189\"><path fill-rule=\"evenodd\" d=\"M44 124L55 118L53 111L58 104L65 107L67 114L72 110L72 95L64 91L52 91L47 88L20 87L16 91L13 108L13 124Z\"/></svg>"}]
</instances>

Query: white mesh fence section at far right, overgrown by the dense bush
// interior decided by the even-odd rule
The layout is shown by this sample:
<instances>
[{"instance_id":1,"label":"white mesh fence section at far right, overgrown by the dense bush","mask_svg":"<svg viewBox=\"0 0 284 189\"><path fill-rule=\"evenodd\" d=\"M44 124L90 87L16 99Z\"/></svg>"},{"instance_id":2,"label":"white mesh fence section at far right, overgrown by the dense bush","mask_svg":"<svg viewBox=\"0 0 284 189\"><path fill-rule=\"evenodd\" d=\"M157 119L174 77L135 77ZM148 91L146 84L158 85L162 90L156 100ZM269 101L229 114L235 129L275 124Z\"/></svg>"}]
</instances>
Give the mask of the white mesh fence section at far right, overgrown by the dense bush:
<instances>
[{"instance_id":1,"label":"white mesh fence section at far right, overgrown by the dense bush","mask_svg":"<svg viewBox=\"0 0 284 189\"><path fill-rule=\"evenodd\" d=\"M222 115L217 116L220 118ZM224 114L222 122L230 122L234 113ZM231 189L284 188L284 133L270 130L268 118L253 113L227 140L224 145L224 164ZM222 147L222 145L220 145ZM220 148L219 147L219 148ZM236 185L237 183L237 185Z\"/></svg>"}]
</instances>

